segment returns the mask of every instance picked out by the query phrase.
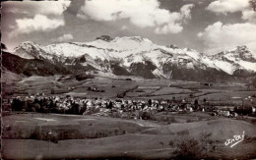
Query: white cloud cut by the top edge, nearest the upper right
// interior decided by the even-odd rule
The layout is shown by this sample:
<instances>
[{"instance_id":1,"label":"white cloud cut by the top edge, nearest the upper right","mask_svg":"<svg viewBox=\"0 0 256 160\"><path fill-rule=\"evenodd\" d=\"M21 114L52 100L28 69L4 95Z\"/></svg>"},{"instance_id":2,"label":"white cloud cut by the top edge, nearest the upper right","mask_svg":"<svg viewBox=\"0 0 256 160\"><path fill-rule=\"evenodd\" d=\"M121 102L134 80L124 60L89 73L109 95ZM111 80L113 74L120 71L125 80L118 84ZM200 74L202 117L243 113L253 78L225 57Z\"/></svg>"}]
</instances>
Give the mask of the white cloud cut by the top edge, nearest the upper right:
<instances>
[{"instance_id":1,"label":"white cloud cut by the top edge, nearest the upper right","mask_svg":"<svg viewBox=\"0 0 256 160\"><path fill-rule=\"evenodd\" d=\"M249 0L217 0L209 4L207 10L219 13L234 13L249 7Z\"/></svg>"}]
</instances>

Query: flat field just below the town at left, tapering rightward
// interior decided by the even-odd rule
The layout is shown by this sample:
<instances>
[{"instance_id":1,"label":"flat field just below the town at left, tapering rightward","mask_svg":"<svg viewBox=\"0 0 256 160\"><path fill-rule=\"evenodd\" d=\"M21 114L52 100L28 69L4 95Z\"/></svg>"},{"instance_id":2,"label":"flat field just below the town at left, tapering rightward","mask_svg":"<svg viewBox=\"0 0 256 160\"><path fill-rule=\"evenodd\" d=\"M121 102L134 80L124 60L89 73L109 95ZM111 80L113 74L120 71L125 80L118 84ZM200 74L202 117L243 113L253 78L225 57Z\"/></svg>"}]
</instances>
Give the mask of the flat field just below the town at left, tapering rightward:
<instances>
[{"instance_id":1,"label":"flat field just below the town at left, tapering rightward","mask_svg":"<svg viewBox=\"0 0 256 160\"><path fill-rule=\"evenodd\" d=\"M107 121L105 121L107 120ZM57 133L58 139L97 138L124 133L140 133L157 124L134 122L104 117L58 115L58 114L16 114L3 118L3 132L6 138L46 139L47 133Z\"/></svg>"}]
</instances>

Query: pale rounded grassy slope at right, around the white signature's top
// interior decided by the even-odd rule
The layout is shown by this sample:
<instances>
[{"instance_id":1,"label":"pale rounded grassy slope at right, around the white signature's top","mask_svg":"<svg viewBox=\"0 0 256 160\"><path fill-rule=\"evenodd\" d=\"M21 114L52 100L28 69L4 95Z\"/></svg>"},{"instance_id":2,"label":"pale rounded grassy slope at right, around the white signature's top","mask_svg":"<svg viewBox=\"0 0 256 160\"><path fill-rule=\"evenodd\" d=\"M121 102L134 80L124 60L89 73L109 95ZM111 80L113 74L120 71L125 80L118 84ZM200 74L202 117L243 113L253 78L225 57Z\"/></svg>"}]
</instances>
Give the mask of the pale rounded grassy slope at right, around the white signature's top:
<instances>
[{"instance_id":1,"label":"pale rounded grassy slope at right, around the white signature's top","mask_svg":"<svg viewBox=\"0 0 256 160\"><path fill-rule=\"evenodd\" d=\"M212 121L193 122L185 124L171 124L154 129L149 129L143 133L147 134L178 134L197 137L200 133L211 133L215 140L230 138L230 135L245 133L247 136L256 136L256 127L244 121L219 119Z\"/></svg>"}]
</instances>

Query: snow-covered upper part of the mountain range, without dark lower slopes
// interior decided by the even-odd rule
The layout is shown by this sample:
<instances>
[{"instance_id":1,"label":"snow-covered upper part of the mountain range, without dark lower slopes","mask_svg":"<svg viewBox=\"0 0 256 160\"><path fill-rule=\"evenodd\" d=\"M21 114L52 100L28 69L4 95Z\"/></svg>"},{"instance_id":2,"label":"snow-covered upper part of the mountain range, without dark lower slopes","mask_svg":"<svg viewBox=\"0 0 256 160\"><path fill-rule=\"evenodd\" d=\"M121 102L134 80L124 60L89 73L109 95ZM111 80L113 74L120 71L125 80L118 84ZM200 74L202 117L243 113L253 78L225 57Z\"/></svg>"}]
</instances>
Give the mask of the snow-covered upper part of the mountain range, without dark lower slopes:
<instances>
[{"instance_id":1,"label":"snow-covered upper part of the mountain range, without dark lower slopes","mask_svg":"<svg viewBox=\"0 0 256 160\"><path fill-rule=\"evenodd\" d=\"M149 70L157 77L164 77L163 71L167 71L164 69L166 64L186 70L213 69L228 75L232 75L236 70L256 72L256 59L252 57L246 46L207 56L196 50L182 49L174 45L160 46L139 36L112 38L103 35L92 42L70 42L47 46L24 42L15 49L15 54L26 59L62 62L64 65L74 65L83 57L85 60L80 62L82 66L92 66L104 72L113 70L111 63L132 71L131 67L136 67L134 64L147 66L147 62L152 62L156 69L150 67ZM165 72L165 77L170 73Z\"/></svg>"}]
</instances>

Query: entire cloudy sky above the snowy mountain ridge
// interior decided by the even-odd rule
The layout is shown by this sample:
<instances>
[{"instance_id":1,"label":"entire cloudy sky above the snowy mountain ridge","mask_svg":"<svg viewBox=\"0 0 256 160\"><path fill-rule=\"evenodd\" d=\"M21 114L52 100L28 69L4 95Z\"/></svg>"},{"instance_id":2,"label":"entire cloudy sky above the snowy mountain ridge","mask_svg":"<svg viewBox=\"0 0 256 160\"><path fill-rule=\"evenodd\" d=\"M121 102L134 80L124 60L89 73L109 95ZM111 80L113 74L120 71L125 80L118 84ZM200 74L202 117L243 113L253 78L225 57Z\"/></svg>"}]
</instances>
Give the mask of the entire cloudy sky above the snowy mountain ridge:
<instances>
[{"instance_id":1,"label":"entire cloudy sky above the snowy mountain ridge","mask_svg":"<svg viewBox=\"0 0 256 160\"><path fill-rule=\"evenodd\" d=\"M2 2L2 42L88 42L100 35L142 36L216 54L247 45L256 55L249 0L73 0Z\"/></svg>"}]
</instances>

